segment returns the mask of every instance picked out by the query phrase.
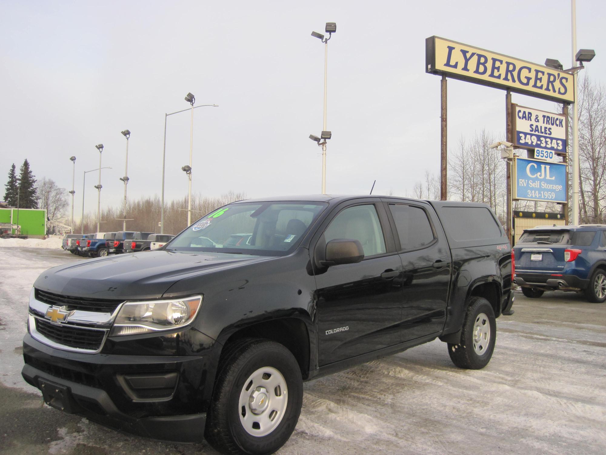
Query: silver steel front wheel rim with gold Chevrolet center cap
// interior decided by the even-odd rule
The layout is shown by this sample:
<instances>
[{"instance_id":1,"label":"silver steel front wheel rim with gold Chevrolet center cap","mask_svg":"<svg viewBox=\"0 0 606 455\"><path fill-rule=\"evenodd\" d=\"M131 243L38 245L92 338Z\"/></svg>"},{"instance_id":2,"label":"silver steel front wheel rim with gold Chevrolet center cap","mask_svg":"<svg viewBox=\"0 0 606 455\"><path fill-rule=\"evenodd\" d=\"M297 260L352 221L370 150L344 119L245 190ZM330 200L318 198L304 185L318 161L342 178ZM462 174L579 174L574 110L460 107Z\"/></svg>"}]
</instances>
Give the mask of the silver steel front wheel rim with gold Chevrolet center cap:
<instances>
[{"instance_id":1,"label":"silver steel front wheel rim with gold Chevrolet center cap","mask_svg":"<svg viewBox=\"0 0 606 455\"><path fill-rule=\"evenodd\" d=\"M244 430L252 436L270 434L284 417L287 405L286 380L266 366L251 374L240 393L238 414Z\"/></svg>"}]
</instances>

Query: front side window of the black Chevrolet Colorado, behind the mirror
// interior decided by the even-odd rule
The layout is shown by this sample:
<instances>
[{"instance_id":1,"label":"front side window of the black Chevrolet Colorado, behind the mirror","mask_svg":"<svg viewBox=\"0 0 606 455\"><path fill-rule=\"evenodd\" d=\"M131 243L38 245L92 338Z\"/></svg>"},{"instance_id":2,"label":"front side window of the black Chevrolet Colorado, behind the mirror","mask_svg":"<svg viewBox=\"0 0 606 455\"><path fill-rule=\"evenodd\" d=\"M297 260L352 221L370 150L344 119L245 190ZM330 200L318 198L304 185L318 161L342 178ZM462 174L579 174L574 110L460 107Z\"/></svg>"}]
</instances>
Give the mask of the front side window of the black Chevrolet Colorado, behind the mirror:
<instances>
[{"instance_id":1,"label":"front side window of the black Chevrolet Colorado, behind the mirror","mask_svg":"<svg viewBox=\"0 0 606 455\"><path fill-rule=\"evenodd\" d=\"M335 238L358 240L365 257L386 252L381 223L373 204L348 207L339 213L327 227L324 237L327 242Z\"/></svg>"}]
</instances>

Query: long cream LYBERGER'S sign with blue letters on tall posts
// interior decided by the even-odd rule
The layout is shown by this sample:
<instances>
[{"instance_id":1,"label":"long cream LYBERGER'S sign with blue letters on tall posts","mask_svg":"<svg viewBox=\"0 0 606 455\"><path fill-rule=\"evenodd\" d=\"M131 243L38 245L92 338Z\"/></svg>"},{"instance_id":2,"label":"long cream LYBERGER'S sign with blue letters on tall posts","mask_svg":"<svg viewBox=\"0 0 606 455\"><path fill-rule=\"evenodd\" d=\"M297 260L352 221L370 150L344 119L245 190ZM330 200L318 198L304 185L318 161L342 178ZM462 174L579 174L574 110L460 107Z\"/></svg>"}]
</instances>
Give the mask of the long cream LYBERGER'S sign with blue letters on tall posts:
<instances>
[{"instance_id":1,"label":"long cream LYBERGER'S sign with blue letters on tall posts","mask_svg":"<svg viewBox=\"0 0 606 455\"><path fill-rule=\"evenodd\" d=\"M425 39L425 72L574 103L573 81L568 73L438 36Z\"/></svg>"}]
</instances>

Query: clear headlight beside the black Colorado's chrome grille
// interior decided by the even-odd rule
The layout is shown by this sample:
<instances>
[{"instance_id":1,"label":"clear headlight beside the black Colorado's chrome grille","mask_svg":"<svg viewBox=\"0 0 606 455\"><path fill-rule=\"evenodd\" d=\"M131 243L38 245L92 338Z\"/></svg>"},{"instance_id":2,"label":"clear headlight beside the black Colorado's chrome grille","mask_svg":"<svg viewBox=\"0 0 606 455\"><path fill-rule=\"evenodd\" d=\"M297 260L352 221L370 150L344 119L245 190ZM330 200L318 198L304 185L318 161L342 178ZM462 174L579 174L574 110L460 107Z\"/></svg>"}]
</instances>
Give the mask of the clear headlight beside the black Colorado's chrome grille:
<instances>
[{"instance_id":1,"label":"clear headlight beside the black Colorado's chrome grille","mask_svg":"<svg viewBox=\"0 0 606 455\"><path fill-rule=\"evenodd\" d=\"M198 314L202 298L202 295L195 295L175 300L125 302L110 336L137 335L188 325Z\"/></svg>"}]
</instances>

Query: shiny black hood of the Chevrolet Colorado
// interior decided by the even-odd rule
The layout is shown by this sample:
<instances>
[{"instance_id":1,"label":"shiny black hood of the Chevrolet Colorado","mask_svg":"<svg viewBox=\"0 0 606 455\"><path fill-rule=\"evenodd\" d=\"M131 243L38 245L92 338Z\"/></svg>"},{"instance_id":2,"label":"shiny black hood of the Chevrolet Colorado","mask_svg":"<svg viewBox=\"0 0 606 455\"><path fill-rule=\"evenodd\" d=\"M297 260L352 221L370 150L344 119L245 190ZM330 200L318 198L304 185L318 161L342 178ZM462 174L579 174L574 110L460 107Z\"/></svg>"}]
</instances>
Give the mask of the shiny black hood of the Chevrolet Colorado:
<instances>
[{"instance_id":1,"label":"shiny black hood of the Chevrolet Colorado","mask_svg":"<svg viewBox=\"0 0 606 455\"><path fill-rule=\"evenodd\" d=\"M88 298L158 298L185 276L271 259L224 253L145 251L78 261L43 272L34 287Z\"/></svg>"}]
</instances>

